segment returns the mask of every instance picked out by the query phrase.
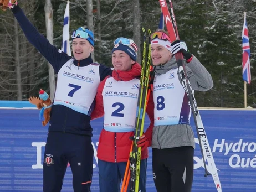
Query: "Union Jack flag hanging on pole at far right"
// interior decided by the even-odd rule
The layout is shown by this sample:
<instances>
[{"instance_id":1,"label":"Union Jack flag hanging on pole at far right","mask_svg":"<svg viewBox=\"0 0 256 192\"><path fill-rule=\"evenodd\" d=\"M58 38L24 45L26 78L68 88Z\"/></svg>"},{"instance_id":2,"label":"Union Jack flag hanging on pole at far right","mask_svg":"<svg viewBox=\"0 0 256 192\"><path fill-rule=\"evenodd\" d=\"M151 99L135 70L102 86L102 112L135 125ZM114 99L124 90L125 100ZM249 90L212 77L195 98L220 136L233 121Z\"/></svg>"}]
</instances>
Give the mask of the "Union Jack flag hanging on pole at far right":
<instances>
[{"instance_id":1,"label":"Union Jack flag hanging on pole at far right","mask_svg":"<svg viewBox=\"0 0 256 192\"><path fill-rule=\"evenodd\" d=\"M244 26L243 26L243 80L250 84L250 45L248 28L246 22L246 13L244 12Z\"/></svg>"}]
</instances>

